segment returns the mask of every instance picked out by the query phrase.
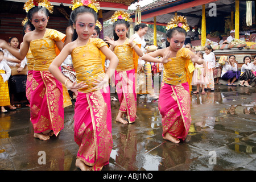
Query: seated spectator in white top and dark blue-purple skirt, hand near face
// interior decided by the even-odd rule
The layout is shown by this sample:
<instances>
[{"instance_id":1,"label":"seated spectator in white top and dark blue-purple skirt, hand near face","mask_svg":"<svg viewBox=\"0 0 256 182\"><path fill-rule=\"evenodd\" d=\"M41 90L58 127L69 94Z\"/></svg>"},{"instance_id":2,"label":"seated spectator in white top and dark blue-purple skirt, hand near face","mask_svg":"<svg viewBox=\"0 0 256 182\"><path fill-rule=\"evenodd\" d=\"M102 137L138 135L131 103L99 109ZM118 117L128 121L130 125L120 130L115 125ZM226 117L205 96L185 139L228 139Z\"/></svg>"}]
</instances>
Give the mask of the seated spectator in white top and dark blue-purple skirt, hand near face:
<instances>
[{"instance_id":1,"label":"seated spectator in white top and dark blue-purple skirt, hand near face","mask_svg":"<svg viewBox=\"0 0 256 182\"><path fill-rule=\"evenodd\" d=\"M228 84L226 84L228 86L237 86L234 82L240 77L240 71L237 70L237 64L234 61L236 61L236 56L229 56L222 68L221 79L228 80Z\"/></svg>"}]
</instances>

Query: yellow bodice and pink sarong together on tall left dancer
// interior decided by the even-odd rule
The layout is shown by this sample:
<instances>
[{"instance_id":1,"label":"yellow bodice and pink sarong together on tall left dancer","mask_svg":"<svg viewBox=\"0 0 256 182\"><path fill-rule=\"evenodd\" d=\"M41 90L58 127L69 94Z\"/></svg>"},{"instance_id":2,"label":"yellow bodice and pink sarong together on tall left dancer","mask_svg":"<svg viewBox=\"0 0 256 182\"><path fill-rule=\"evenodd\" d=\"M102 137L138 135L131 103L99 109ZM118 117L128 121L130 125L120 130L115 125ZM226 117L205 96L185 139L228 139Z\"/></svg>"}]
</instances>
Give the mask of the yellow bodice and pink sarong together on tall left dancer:
<instances>
[{"instance_id":1,"label":"yellow bodice and pink sarong together on tall left dancer","mask_svg":"<svg viewBox=\"0 0 256 182\"><path fill-rule=\"evenodd\" d=\"M47 28L43 39L30 42L34 57L30 109L35 133L52 130L57 136L64 127L62 84L48 71L56 57L55 42L64 38L65 34Z\"/></svg>"}]
</instances>

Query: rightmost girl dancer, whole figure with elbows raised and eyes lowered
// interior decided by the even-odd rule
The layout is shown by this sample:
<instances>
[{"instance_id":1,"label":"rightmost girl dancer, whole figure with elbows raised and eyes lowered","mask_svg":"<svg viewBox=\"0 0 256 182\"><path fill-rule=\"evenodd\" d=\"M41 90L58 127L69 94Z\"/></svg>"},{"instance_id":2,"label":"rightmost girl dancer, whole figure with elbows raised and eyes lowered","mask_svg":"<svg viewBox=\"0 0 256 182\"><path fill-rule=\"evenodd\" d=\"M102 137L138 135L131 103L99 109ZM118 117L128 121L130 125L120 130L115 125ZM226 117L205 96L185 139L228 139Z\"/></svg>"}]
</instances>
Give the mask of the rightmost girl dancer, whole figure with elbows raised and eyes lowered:
<instances>
[{"instance_id":1,"label":"rightmost girl dancer, whole figure with elbows raised and eyes lowered","mask_svg":"<svg viewBox=\"0 0 256 182\"><path fill-rule=\"evenodd\" d=\"M167 44L167 48L142 56L145 61L164 63L159 110L162 114L163 138L174 143L179 143L180 139L185 140L188 135L191 125L189 84L195 69L193 63L204 63L195 53L182 48L186 30L187 19L175 16L167 26L167 41L170 46ZM162 59L158 59L158 56Z\"/></svg>"}]
</instances>

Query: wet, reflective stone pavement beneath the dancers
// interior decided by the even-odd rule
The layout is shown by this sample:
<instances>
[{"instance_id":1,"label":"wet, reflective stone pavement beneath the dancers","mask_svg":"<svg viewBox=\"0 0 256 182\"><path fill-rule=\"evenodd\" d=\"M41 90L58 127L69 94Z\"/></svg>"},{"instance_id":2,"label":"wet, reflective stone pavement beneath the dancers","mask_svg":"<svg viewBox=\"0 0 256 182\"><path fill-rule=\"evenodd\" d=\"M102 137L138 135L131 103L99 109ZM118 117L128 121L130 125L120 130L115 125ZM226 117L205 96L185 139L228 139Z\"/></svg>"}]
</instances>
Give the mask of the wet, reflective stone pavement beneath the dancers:
<instances>
[{"instance_id":1,"label":"wet, reflective stone pavement beneath the dancers","mask_svg":"<svg viewBox=\"0 0 256 182\"><path fill-rule=\"evenodd\" d=\"M113 150L102 171L255 171L256 87L215 86L215 92L191 94L192 125L179 144L163 140L157 100L138 97L138 118L131 125L114 121L119 102L112 101ZM65 108L64 129L48 141L33 137L28 107L1 114L0 169L79 170L73 110ZM40 152L45 164L39 164Z\"/></svg>"}]
</instances>

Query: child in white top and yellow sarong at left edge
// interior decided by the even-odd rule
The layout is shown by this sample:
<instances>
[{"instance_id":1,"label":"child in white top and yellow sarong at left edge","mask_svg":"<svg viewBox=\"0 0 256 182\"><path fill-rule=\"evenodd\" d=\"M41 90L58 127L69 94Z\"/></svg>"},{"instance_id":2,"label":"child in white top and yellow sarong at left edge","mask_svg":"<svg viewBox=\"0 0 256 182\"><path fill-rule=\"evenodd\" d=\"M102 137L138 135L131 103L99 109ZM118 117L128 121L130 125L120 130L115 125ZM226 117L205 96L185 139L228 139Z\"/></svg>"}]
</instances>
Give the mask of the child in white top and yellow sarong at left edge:
<instances>
[{"instance_id":1,"label":"child in white top and yellow sarong at left edge","mask_svg":"<svg viewBox=\"0 0 256 182\"><path fill-rule=\"evenodd\" d=\"M11 68L3 61L4 53L0 50L0 106L1 113L6 113L5 106L10 106L8 79L11 76Z\"/></svg>"}]
</instances>

